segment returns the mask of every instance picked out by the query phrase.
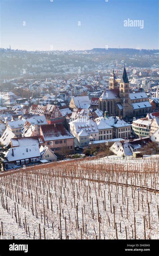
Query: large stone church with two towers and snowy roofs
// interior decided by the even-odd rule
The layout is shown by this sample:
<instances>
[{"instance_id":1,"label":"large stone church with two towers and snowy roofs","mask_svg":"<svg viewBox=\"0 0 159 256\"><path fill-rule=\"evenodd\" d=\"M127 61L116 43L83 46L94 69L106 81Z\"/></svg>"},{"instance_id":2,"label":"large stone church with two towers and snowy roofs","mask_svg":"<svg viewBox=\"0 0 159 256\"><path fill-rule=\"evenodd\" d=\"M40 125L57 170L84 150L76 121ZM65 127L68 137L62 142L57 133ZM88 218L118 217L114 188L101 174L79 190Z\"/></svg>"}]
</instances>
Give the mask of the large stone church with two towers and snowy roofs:
<instances>
[{"instance_id":1,"label":"large stone church with two towers and snowy roofs","mask_svg":"<svg viewBox=\"0 0 159 256\"><path fill-rule=\"evenodd\" d=\"M119 87L118 87L119 82ZM136 117L151 113L152 105L146 92L129 93L129 81L124 66L121 79L113 74L109 78L109 89L99 98L99 109L109 116Z\"/></svg>"}]
</instances>

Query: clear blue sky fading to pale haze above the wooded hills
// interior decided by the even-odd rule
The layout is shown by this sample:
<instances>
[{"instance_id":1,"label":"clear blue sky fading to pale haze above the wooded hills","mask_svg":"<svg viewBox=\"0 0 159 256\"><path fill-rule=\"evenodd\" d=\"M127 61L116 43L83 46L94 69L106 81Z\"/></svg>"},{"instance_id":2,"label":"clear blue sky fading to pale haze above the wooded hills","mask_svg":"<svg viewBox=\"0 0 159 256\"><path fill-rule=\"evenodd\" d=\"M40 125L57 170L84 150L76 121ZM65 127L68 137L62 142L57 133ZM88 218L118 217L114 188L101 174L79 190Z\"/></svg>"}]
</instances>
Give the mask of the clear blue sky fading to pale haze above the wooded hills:
<instances>
[{"instance_id":1,"label":"clear blue sky fading to pale haze above the wooded hills","mask_svg":"<svg viewBox=\"0 0 159 256\"><path fill-rule=\"evenodd\" d=\"M0 47L159 49L158 5L158 0L1 0ZM124 26L128 19L144 21L143 28Z\"/></svg>"}]
</instances>

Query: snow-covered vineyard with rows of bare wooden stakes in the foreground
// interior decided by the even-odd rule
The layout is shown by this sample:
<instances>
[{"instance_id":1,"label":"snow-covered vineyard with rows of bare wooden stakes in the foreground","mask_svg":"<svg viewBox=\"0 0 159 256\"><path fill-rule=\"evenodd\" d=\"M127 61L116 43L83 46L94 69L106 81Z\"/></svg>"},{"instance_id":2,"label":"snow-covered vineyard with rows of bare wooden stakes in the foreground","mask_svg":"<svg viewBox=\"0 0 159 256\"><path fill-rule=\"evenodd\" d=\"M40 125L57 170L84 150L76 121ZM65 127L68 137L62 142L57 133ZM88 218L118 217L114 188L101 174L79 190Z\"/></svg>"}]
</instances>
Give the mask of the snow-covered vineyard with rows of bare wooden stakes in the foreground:
<instances>
[{"instance_id":1,"label":"snow-covered vineyard with rows of bare wooden stakes in the foreground","mask_svg":"<svg viewBox=\"0 0 159 256\"><path fill-rule=\"evenodd\" d=\"M157 158L82 159L7 172L0 193L1 239L157 239Z\"/></svg>"}]
</instances>

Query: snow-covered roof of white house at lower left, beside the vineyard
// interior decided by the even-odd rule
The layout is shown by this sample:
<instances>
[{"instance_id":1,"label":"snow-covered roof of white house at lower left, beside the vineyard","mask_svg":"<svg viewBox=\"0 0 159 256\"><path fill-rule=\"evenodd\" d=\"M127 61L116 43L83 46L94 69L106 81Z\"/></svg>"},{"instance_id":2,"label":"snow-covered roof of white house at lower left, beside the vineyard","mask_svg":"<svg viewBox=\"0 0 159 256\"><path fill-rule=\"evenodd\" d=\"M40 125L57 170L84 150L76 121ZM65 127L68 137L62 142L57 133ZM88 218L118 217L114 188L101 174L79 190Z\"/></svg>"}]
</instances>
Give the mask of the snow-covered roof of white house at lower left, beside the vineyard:
<instances>
[{"instance_id":1,"label":"snow-covered roof of white house at lower left, beside the vineyard","mask_svg":"<svg viewBox=\"0 0 159 256\"><path fill-rule=\"evenodd\" d=\"M12 155L12 150L13 154ZM17 161L26 158L35 158L40 157L40 150L39 145L27 145L22 147L10 148L6 153L5 156L8 158L5 162Z\"/></svg>"}]
</instances>

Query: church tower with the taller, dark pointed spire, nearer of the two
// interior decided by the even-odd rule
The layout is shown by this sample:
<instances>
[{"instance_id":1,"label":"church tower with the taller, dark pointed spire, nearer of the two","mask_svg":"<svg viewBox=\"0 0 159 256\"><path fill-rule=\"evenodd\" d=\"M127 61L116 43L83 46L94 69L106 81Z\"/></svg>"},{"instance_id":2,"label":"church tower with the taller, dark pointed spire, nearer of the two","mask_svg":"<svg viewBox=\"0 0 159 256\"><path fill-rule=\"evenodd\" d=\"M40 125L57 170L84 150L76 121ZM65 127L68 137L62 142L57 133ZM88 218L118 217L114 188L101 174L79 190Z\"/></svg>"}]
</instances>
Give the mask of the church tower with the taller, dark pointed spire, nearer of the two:
<instances>
[{"instance_id":1,"label":"church tower with the taller, dark pointed spire, nearer of the two","mask_svg":"<svg viewBox=\"0 0 159 256\"><path fill-rule=\"evenodd\" d=\"M129 81L128 81L125 65L124 65L124 71L119 84L119 96L121 100L120 102L123 106L123 111L122 111L123 117L128 116L133 109L131 106L131 100L129 98Z\"/></svg>"}]
</instances>

